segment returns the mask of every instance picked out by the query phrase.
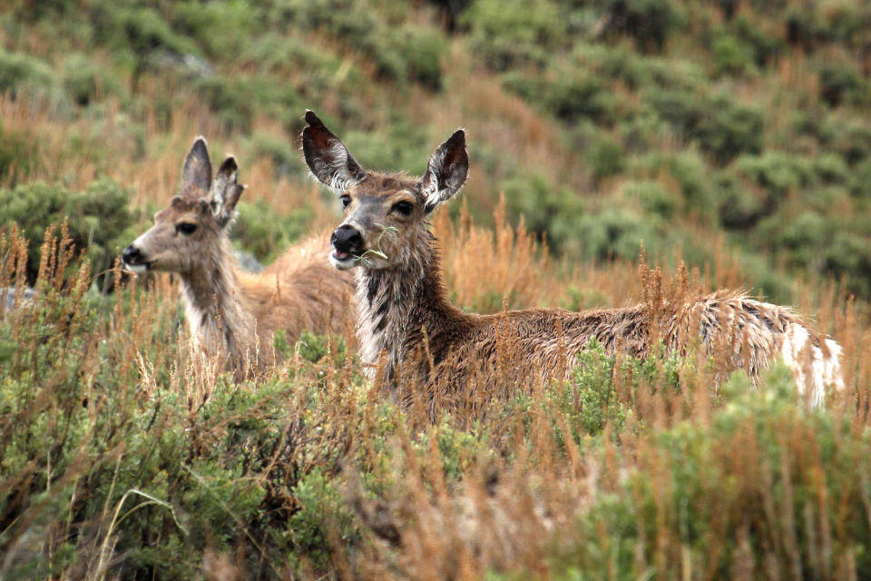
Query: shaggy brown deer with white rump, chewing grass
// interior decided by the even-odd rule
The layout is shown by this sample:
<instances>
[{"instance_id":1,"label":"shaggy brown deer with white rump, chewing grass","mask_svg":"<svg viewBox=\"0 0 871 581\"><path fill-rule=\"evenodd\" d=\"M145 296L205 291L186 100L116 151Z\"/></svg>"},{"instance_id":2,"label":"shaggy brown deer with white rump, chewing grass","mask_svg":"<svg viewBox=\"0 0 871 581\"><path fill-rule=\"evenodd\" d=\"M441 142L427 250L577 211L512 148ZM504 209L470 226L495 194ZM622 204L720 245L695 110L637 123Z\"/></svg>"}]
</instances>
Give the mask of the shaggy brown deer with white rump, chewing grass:
<instances>
[{"instance_id":1,"label":"shaggy brown deer with white rump, chewing grass","mask_svg":"<svg viewBox=\"0 0 871 581\"><path fill-rule=\"evenodd\" d=\"M465 131L439 145L415 178L364 170L315 113L308 111L305 120L308 168L344 206L329 260L338 270L356 269L357 347L367 374L380 375L404 400L420 394L404 393L403 385L425 386L431 419L445 406L480 407L500 391L568 379L577 360L568 356L592 339L608 352L634 357L650 355L657 338L681 352L694 344L710 356L725 349L723 374L744 369L754 381L780 354L799 389L811 390L814 405L823 402L827 385L842 387L834 340L816 339L794 310L743 291L716 291L655 310L650 301L581 312L459 310L447 300L439 246L427 226L466 181ZM497 385L497 376L503 384L514 377L515 385Z\"/></svg>"}]
</instances>

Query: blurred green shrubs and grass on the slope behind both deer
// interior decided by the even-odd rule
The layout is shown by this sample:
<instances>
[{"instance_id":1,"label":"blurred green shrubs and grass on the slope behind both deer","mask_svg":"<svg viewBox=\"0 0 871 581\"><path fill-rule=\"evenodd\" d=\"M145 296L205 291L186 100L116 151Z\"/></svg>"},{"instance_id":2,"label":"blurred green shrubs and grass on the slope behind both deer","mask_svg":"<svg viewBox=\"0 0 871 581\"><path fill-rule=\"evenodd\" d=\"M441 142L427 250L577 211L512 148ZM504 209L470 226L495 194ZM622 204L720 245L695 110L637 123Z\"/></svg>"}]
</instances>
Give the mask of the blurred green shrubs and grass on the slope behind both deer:
<instances>
[{"instance_id":1,"label":"blurred green shrubs and grass on the slope behind both deer","mask_svg":"<svg viewBox=\"0 0 871 581\"><path fill-rule=\"evenodd\" d=\"M871 5L843 0L10 0L0 184L4 198L57 184L16 206L35 224L68 190L113 207L126 192L147 216L208 133L291 192L291 218L242 212L240 246L269 259L318 198L298 154L306 108L374 169L421 172L465 126L475 219L504 192L509 218L570 263L634 260L643 243L698 266L725 241L772 300L796 275L869 297L869 67ZM91 187L100 175L118 186ZM110 243L147 222L125 212L81 231Z\"/></svg>"}]
</instances>

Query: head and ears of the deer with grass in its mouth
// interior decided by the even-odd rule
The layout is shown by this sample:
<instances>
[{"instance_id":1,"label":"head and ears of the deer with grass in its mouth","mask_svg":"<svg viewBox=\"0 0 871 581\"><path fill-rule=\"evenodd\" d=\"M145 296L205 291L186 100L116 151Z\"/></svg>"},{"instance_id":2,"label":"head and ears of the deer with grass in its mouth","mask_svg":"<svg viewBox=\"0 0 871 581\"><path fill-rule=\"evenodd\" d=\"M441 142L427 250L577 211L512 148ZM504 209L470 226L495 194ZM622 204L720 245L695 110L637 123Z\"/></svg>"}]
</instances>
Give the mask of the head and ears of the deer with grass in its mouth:
<instances>
[{"instance_id":1,"label":"head and ears of the deer with grass in its mouth","mask_svg":"<svg viewBox=\"0 0 871 581\"><path fill-rule=\"evenodd\" d=\"M463 130L435 150L422 178L413 179L365 171L315 113L306 113L306 121L302 148L308 168L338 192L345 208L345 221L332 235L330 262L341 270L383 270L408 263L429 214L465 182L469 158Z\"/></svg>"}]
</instances>

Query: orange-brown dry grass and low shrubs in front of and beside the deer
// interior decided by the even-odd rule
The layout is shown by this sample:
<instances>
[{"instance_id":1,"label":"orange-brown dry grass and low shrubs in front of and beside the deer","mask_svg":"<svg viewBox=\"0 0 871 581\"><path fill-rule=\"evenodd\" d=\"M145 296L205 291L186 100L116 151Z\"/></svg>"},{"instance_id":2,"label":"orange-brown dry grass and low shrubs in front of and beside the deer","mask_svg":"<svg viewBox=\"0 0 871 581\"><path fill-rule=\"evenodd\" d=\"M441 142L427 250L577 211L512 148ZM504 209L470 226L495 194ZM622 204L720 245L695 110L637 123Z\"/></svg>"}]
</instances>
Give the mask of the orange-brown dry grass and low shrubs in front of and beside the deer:
<instances>
[{"instance_id":1,"label":"orange-brown dry grass and low shrubs in front of and beside the deer","mask_svg":"<svg viewBox=\"0 0 871 581\"><path fill-rule=\"evenodd\" d=\"M613 302L686 292L680 274L641 283L631 265L567 281L503 212L495 231L465 212L435 223L460 304L558 302L569 284ZM462 429L378 398L335 355L298 351L233 385L186 347L169 281L93 303L56 236L37 298L0 313L15 343L0 572L38 556L58 564L49 578L141 575L128 555L147 545L183 551L161 576L209 579L861 578L869 334L866 305L831 287L802 295L845 349L850 388L825 412L789 395L782 370L718 391L692 361L612 368L593 353L573 382L491 401ZM22 248L15 230L0 241L0 286L22 288ZM723 258L696 276L740 275ZM606 399L589 399L595 386Z\"/></svg>"}]
</instances>

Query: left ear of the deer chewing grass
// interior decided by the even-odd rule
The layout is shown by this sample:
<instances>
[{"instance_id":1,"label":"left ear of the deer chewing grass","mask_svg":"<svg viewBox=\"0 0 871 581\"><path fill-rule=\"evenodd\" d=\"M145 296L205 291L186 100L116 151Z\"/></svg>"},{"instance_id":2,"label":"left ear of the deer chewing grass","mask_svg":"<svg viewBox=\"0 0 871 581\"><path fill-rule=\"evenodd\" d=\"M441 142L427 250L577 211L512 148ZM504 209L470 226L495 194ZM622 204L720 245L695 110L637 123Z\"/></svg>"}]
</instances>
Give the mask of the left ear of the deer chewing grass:
<instances>
[{"instance_id":1,"label":"left ear of the deer chewing grass","mask_svg":"<svg viewBox=\"0 0 871 581\"><path fill-rule=\"evenodd\" d=\"M327 129L312 111L306 112L308 127L302 130L302 151L308 169L320 182L338 192L366 177L366 171L357 163L338 137Z\"/></svg>"}]
</instances>

